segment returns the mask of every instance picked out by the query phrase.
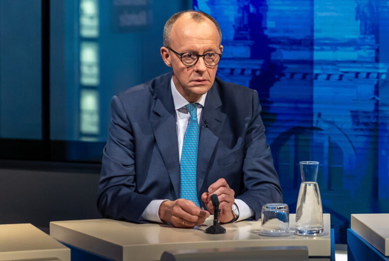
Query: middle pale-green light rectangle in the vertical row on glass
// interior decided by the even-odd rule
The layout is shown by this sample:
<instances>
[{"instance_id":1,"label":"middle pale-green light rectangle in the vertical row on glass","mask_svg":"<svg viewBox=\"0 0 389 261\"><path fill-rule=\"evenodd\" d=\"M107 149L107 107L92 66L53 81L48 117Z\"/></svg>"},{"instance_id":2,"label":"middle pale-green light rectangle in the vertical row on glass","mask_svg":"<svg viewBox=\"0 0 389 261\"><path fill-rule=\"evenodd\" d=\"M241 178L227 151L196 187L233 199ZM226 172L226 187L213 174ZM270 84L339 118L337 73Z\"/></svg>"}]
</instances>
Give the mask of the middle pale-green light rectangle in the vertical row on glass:
<instances>
[{"instance_id":1,"label":"middle pale-green light rectangle in the vertical row on glass","mask_svg":"<svg viewBox=\"0 0 389 261\"><path fill-rule=\"evenodd\" d=\"M80 83L86 86L99 85L98 44L82 42L80 52Z\"/></svg>"}]
</instances>

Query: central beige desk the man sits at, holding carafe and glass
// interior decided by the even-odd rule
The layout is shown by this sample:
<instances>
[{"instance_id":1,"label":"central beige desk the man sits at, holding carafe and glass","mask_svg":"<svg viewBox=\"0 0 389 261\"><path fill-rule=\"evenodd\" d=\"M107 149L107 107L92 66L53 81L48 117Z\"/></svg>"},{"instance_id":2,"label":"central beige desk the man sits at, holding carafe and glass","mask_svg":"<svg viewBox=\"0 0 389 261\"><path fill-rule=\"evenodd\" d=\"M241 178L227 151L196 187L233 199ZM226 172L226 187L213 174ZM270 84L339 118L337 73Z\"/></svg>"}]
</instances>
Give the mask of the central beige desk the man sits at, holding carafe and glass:
<instances>
[{"instance_id":1,"label":"central beige desk the man sits at, holding carafe and glass","mask_svg":"<svg viewBox=\"0 0 389 261\"><path fill-rule=\"evenodd\" d=\"M225 224L225 234L210 235L204 230L212 218L198 229L178 229L168 225L135 224L112 219L50 222L50 235L69 245L114 260L159 260L165 250L250 246L307 246L309 256L330 257L330 215L324 214L321 237L261 237L259 221ZM291 227L295 215L290 215Z\"/></svg>"}]
</instances>

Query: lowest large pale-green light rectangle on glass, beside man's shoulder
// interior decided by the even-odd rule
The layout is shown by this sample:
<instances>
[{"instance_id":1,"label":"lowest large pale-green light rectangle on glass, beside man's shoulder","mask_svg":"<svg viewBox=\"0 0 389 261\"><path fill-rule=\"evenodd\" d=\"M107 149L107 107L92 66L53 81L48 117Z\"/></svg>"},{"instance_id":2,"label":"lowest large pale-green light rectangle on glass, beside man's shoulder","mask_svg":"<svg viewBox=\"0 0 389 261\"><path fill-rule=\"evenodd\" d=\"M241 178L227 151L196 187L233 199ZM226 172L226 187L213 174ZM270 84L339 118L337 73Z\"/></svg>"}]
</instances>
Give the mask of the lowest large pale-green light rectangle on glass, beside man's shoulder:
<instances>
[{"instance_id":1,"label":"lowest large pale-green light rectangle on glass, beside man's shoulder","mask_svg":"<svg viewBox=\"0 0 389 261\"><path fill-rule=\"evenodd\" d=\"M95 90L81 91L80 131L82 134L99 134L99 97Z\"/></svg>"}]
</instances>

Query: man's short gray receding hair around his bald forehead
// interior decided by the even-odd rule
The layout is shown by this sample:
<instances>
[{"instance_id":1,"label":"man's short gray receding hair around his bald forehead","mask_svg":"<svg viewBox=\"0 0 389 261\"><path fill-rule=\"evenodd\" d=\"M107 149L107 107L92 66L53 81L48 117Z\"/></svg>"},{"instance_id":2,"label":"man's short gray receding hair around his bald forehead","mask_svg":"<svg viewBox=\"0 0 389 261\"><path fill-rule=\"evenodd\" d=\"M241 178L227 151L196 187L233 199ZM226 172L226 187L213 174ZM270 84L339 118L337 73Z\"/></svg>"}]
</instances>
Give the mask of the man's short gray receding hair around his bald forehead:
<instances>
[{"instance_id":1,"label":"man's short gray receding hair around his bald forehead","mask_svg":"<svg viewBox=\"0 0 389 261\"><path fill-rule=\"evenodd\" d=\"M190 18L193 19L193 21L196 21L198 23L204 21L205 18L208 18L209 20L211 20L216 25L217 31L219 32L219 36L220 36L220 43L219 44L221 44L220 26L212 16L210 16L207 13L204 13L203 11L186 10L186 11L181 11L181 12L175 13L174 15L172 15L172 17L169 18L169 20L166 21L165 26L164 26L164 46L165 47L169 46L170 32L172 30L173 24L177 21L177 19L181 15L183 15L185 13L190 13L190 15L191 15Z\"/></svg>"}]
</instances>

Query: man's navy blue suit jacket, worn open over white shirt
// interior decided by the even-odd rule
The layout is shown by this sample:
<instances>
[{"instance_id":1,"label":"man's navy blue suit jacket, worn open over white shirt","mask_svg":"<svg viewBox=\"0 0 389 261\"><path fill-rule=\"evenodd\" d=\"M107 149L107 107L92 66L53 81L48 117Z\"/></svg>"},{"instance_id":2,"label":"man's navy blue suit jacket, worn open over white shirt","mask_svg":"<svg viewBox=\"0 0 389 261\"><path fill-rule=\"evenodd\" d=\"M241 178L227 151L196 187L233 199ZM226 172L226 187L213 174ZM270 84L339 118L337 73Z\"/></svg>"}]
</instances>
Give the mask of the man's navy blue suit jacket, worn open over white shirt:
<instances>
[{"instance_id":1,"label":"man's navy blue suit jacket, worn open over white shirt","mask_svg":"<svg viewBox=\"0 0 389 261\"><path fill-rule=\"evenodd\" d=\"M111 100L98 209L109 218L142 222L151 200L180 195L180 163L171 73L132 87ZM235 197L260 218L266 203L282 202L255 90L216 78L201 120L197 190L225 178ZM206 208L205 208L206 209Z\"/></svg>"}]
</instances>

